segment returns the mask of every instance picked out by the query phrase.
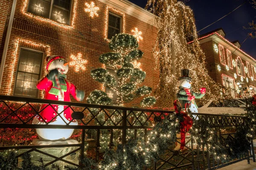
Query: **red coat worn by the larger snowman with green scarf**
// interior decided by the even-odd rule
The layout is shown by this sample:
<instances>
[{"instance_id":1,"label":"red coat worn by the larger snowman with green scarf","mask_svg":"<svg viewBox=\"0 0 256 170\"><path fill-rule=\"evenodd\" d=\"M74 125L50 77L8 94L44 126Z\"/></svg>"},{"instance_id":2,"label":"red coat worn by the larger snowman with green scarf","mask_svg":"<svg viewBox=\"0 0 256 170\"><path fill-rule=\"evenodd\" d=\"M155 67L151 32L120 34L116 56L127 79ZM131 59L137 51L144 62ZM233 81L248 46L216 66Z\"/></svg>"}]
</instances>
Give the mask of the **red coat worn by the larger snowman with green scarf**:
<instances>
[{"instance_id":1,"label":"red coat worn by the larger snowman with green scarf","mask_svg":"<svg viewBox=\"0 0 256 170\"><path fill-rule=\"evenodd\" d=\"M73 83L67 81L67 79L64 79L64 80L65 80L65 82L67 84L67 91L63 92L63 94L64 94L64 101L65 102L70 102L70 94L72 94L72 96L76 100L79 100L76 97L76 89L77 89L76 86L73 85ZM52 88L52 85L53 85L52 81L47 79L47 77L44 77L44 78L40 79L37 82L36 87L39 90L45 90L44 99L58 100L58 95L49 94L49 90ZM52 107L55 108L55 109L53 109L50 105L48 105L47 107L46 106L47 106L47 104L41 105L40 111L42 109L44 109L44 110L40 112L40 115L45 119L46 122L49 122L50 120L52 120L52 118L54 118L57 115L58 105L52 105ZM70 108L67 108L67 109L66 108L67 108L67 106L64 106L64 117L67 120L72 120L72 117L71 117L72 110ZM44 122L40 117L38 119L41 122Z\"/></svg>"}]
</instances>

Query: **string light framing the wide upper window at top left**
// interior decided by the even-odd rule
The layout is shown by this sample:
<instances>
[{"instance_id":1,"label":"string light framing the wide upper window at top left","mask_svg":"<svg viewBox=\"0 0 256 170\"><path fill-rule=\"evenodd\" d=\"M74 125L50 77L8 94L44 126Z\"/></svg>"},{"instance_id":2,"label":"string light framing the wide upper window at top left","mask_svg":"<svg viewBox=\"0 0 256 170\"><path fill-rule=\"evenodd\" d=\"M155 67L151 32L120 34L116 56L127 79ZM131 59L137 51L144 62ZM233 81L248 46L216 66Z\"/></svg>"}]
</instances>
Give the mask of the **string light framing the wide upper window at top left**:
<instances>
[{"instance_id":1,"label":"string light framing the wide upper window at top left","mask_svg":"<svg viewBox=\"0 0 256 170\"><path fill-rule=\"evenodd\" d=\"M22 8L22 12L23 14L25 14L26 16L29 16L31 18L36 18L38 20L41 20L41 21L45 21L47 23L51 23L51 24L54 24L56 26L61 26L63 28L74 28L74 20L75 20L75 17L76 17L76 5L77 5L77 0L74 0L74 3L73 3L73 17L72 17L72 21L71 21L71 24L70 25L66 25L64 23L59 23L57 21L54 21L54 20L51 20L49 18L45 18L45 17L41 17L39 15L35 15L35 14L32 14L32 13L29 13L26 11L26 8L27 8L27 4L29 0L25 0L24 1L24 5L23 5L23 8Z\"/></svg>"}]
</instances>

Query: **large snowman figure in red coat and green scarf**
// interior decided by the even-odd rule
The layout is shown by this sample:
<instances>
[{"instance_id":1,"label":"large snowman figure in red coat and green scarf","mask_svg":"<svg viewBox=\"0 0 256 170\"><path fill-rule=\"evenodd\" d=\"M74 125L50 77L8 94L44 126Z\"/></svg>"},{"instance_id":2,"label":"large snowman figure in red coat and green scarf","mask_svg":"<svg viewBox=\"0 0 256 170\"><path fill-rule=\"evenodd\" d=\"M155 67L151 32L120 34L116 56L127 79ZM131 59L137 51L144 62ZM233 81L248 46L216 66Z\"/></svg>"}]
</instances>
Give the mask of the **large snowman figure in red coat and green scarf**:
<instances>
[{"instance_id":1,"label":"large snowman figure in red coat and green scarf","mask_svg":"<svg viewBox=\"0 0 256 170\"><path fill-rule=\"evenodd\" d=\"M64 57L48 56L46 70L48 74L37 82L37 88L45 90L44 99L70 102L70 94L77 101L84 99L84 91L79 91L66 79L68 62ZM35 116L33 124L49 122L49 125L77 125L76 120L71 117L72 110L67 106L43 104L40 111L40 116ZM36 129L40 141L65 141L70 138L73 131L74 129Z\"/></svg>"}]
</instances>

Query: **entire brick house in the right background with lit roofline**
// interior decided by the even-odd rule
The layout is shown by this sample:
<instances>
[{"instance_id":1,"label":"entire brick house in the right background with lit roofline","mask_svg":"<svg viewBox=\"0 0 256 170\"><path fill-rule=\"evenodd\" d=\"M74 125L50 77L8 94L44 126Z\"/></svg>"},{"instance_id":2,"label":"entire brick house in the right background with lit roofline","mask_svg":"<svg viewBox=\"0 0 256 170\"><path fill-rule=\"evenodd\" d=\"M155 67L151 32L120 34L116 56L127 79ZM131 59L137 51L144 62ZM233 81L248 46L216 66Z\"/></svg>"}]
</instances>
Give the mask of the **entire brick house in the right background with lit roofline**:
<instances>
[{"instance_id":1,"label":"entire brick house in the right background with lit roofline","mask_svg":"<svg viewBox=\"0 0 256 170\"><path fill-rule=\"evenodd\" d=\"M256 91L256 60L240 49L238 41L225 39L222 28L199 38L210 77L230 90L233 97Z\"/></svg>"}]
</instances>

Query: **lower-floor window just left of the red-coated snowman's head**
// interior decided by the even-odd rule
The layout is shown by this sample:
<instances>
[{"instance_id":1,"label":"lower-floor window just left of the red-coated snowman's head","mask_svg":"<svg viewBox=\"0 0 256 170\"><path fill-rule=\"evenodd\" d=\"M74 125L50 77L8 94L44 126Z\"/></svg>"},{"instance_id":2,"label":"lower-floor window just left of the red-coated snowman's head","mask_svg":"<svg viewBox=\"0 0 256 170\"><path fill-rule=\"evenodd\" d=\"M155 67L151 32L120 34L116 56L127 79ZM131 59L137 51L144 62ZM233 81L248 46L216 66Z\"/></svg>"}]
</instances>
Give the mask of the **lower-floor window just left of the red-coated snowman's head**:
<instances>
[{"instance_id":1,"label":"lower-floor window just left of the red-coated snowman's head","mask_svg":"<svg viewBox=\"0 0 256 170\"><path fill-rule=\"evenodd\" d=\"M15 96L38 97L36 82L40 79L42 59L43 53L20 49L15 80Z\"/></svg>"}]
</instances>

